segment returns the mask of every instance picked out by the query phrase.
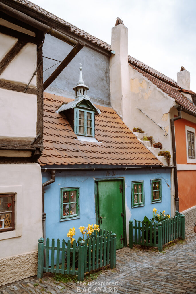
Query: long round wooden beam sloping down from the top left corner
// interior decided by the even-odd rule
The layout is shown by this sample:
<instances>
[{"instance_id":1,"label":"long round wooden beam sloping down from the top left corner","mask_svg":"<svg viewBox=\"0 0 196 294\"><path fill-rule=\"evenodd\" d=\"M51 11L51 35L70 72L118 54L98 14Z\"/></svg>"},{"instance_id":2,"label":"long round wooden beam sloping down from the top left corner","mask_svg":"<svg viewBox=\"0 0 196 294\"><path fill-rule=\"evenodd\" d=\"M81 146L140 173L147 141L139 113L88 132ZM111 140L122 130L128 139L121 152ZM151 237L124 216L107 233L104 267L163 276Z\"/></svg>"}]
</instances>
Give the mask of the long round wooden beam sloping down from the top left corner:
<instances>
[{"instance_id":1,"label":"long round wooden beam sloping down from the top left corner","mask_svg":"<svg viewBox=\"0 0 196 294\"><path fill-rule=\"evenodd\" d=\"M16 9L0 2L0 10L4 12L5 14L8 14L9 16L15 17L16 19L19 19L20 21L23 21L26 24L31 24L31 26L35 27L38 30L41 30L47 34L50 34L51 36L56 37L57 39L60 39L72 46L75 46L78 42L71 39L70 37L66 36L65 34L60 33L59 31L53 29L51 26L48 26L46 24L41 23L40 21L37 21L36 19L17 11Z\"/></svg>"}]
</instances>

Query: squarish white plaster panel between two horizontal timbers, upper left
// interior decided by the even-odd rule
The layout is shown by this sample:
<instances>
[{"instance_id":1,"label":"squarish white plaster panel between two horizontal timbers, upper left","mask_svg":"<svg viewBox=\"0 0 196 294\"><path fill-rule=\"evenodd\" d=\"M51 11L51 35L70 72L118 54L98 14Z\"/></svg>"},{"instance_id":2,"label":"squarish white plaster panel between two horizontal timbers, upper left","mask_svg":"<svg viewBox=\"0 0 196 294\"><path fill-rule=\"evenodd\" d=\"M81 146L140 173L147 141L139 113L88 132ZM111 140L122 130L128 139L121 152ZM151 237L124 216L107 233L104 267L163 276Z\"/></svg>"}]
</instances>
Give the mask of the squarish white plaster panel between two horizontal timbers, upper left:
<instances>
[{"instance_id":1,"label":"squarish white plaster panel between two horizontal timbers, upper left","mask_svg":"<svg viewBox=\"0 0 196 294\"><path fill-rule=\"evenodd\" d=\"M36 137L36 95L0 88L0 109L0 138Z\"/></svg>"}]
</instances>

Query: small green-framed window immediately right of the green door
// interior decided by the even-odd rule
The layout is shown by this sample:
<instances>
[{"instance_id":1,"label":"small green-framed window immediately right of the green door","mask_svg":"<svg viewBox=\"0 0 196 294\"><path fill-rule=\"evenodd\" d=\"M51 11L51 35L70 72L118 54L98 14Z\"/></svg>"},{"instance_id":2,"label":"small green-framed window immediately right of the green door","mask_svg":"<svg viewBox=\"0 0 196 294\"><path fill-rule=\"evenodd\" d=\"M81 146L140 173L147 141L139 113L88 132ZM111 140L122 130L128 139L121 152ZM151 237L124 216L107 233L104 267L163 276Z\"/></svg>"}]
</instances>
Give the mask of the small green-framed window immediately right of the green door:
<instances>
[{"instance_id":1,"label":"small green-framed window immediately right of the green door","mask_svg":"<svg viewBox=\"0 0 196 294\"><path fill-rule=\"evenodd\" d=\"M131 182L132 186L132 208L144 206L144 181Z\"/></svg>"}]
</instances>

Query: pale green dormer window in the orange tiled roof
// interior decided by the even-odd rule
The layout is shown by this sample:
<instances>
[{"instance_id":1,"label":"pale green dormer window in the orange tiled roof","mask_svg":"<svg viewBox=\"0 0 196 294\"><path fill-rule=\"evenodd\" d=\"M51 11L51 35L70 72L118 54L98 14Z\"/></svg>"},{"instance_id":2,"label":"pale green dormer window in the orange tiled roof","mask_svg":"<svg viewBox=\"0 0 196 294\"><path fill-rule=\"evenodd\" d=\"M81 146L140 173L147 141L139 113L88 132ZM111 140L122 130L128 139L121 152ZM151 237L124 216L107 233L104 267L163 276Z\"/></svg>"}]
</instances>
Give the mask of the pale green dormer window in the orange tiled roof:
<instances>
[{"instance_id":1,"label":"pale green dormer window in the orange tiled roof","mask_svg":"<svg viewBox=\"0 0 196 294\"><path fill-rule=\"evenodd\" d=\"M95 113L94 111L76 108L75 109L75 133L80 136L95 136Z\"/></svg>"}]
</instances>

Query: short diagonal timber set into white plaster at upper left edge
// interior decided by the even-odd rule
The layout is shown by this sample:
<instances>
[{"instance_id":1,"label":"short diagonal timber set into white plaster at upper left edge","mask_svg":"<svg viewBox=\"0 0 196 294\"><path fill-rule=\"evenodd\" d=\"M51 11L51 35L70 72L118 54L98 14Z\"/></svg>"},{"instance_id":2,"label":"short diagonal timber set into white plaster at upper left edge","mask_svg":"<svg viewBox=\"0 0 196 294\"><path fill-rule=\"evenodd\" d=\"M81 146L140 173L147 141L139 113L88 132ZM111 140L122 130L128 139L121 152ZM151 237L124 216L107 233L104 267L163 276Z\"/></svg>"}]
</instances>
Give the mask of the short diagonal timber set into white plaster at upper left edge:
<instances>
[{"instance_id":1,"label":"short diagonal timber set into white plaster at upper left edge","mask_svg":"<svg viewBox=\"0 0 196 294\"><path fill-rule=\"evenodd\" d=\"M17 41L16 44L9 50L9 52L0 61L0 75L10 64L10 62L16 57L26 43L23 41Z\"/></svg>"}]
</instances>

